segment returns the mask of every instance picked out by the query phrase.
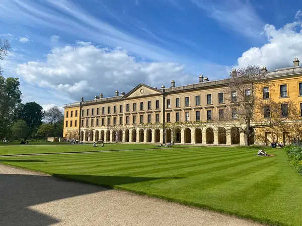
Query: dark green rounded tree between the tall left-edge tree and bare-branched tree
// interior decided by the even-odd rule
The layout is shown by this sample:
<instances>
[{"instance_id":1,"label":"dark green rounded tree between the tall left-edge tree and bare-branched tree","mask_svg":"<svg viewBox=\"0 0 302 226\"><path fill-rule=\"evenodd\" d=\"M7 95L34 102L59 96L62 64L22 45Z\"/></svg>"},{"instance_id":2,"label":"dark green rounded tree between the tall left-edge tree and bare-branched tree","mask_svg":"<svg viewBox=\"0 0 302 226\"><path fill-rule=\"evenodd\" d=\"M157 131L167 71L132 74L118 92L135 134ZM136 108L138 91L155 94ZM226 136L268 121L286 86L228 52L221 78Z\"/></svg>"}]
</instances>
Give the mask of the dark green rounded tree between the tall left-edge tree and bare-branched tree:
<instances>
[{"instance_id":1,"label":"dark green rounded tree between the tall left-edge tree and bare-branched tree","mask_svg":"<svg viewBox=\"0 0 302 226\"><path fill-rule=\"evenodd\" d=\"M43 119L42 106L36 102L23 104L19 110L19 119L24 120L31 129L38 128Z\"/></svg>"}]
</instances>

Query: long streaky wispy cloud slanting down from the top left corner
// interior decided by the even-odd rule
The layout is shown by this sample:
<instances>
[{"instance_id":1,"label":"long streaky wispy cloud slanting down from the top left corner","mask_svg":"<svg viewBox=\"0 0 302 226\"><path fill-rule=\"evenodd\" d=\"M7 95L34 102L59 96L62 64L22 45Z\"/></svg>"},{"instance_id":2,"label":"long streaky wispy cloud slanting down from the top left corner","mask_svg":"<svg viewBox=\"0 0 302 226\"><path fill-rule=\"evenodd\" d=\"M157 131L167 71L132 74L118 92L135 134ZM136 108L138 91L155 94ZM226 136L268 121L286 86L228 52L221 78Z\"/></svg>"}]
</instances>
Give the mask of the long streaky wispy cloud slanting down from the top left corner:
<instances>
[{"instance_id":1,"label":"long streaky wispy cloud slanting down from the top left corner","mask_svg":"<svg viewBox=\"0 0 302 226\"><path fill-rule=\"evenodd\" d=\"M33 1L3 0L0 19L36 27L43 26L67 32L78 39L87 39L101 44L123 48L144 58L153 60L175 59L175 54L156 45L156 41L143 40L117 29L100 18L91 16L78 5L65 0ZM18 15L18 17L16 16Z\"/></svg>"}]
</instances>

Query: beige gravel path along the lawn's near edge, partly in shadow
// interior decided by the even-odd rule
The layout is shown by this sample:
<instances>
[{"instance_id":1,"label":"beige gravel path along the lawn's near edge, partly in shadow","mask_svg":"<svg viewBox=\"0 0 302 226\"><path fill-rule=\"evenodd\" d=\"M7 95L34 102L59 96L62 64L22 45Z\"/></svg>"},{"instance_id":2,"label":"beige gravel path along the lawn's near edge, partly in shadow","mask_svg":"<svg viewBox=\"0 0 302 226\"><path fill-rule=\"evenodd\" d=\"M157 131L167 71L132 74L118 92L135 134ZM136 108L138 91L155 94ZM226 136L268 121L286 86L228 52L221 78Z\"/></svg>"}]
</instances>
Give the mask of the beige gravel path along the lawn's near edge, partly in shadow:
<instances>
[{"instance_id":1,"label":"beige gravel path along the lawn's near edge, partly in shadow","mask_svg":"<svg viewBox=\"0 0 302 226\"><path fill-rule=\"evenodd\" d=\"M0 225L260 225L0 164Z\"/></svg>"}]
</instances>

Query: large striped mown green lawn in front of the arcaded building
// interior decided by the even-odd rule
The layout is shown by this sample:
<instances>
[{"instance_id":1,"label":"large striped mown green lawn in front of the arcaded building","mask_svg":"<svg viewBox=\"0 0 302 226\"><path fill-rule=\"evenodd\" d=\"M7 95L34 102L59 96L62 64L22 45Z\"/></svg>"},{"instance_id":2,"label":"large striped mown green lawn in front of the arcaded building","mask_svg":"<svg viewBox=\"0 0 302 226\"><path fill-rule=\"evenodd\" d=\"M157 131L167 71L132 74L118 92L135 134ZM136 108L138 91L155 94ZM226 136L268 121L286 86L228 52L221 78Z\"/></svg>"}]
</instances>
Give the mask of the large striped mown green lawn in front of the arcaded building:
<instances>
[{"instance_id":1,"label":"large striped mown green lawn in front of the arcaded building","mask_svg":"<svg viewBox=\"0 0 302 226\"><path fill-rule=\"evenodd\" d=\"M139 149L155 145L113 144ZM46 147L31 147L45 149ZM53 146L81 150L81 146ZM82 146L83 150L92 150ZM18 148L15 147L19 153ZM94 149L95 150L95 149ZM2 149L0 148L0 152ZM34 152L30 148L25 152ZM187 147L0 157L0 162L277 225L302 225L302 177L282 149ZM13 152L13 150L12 150Z\"/></svg>"}]
</instances>

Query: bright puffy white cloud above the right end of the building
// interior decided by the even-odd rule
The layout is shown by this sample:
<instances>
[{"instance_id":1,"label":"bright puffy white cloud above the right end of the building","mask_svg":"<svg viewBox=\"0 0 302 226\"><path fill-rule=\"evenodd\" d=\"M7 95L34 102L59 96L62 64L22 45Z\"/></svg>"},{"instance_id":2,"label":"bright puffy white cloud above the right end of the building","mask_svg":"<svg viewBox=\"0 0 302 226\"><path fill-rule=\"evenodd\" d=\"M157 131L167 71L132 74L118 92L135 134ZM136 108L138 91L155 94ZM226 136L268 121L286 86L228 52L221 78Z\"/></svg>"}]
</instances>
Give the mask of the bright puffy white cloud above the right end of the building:
<instances>
[{"instance_id":1,"label":"bright puffy white cloud above the right end of the building","mask_svg":"<svg viewBox=\"0 0 302 226\"><path fill-rule=\"evenodd\" d=\"M267 44L253 47L238 58L238 67L249 64L266 66L269 70L293 66L293 59L302 58L302 29L300 22L286 24L280 29L265 25L263 33Z\"/></svg>"}]
</instances>

